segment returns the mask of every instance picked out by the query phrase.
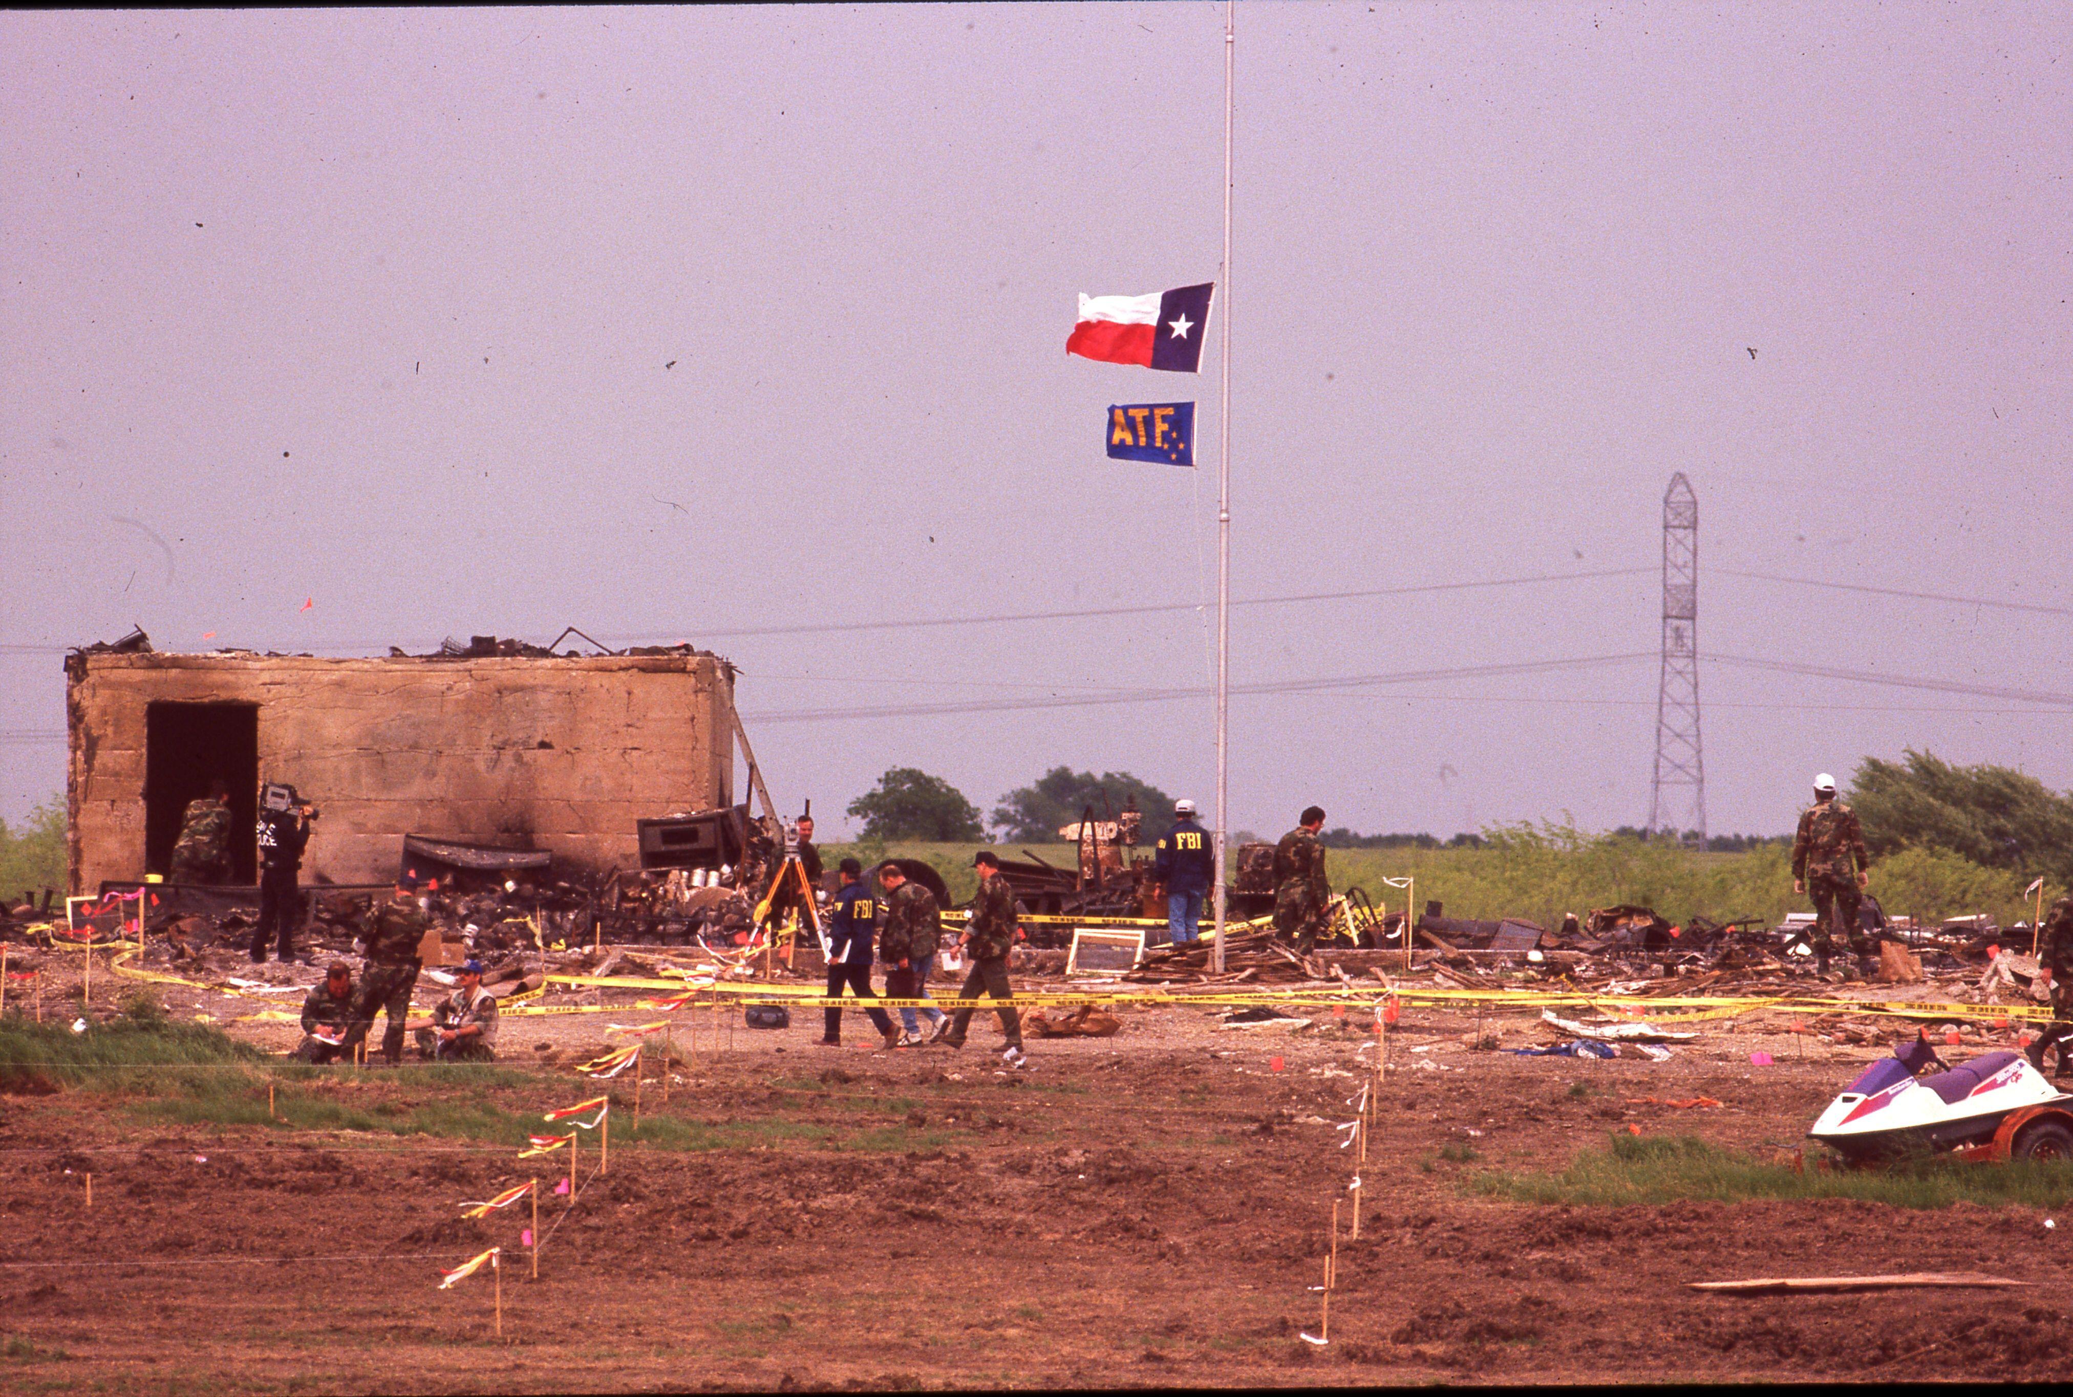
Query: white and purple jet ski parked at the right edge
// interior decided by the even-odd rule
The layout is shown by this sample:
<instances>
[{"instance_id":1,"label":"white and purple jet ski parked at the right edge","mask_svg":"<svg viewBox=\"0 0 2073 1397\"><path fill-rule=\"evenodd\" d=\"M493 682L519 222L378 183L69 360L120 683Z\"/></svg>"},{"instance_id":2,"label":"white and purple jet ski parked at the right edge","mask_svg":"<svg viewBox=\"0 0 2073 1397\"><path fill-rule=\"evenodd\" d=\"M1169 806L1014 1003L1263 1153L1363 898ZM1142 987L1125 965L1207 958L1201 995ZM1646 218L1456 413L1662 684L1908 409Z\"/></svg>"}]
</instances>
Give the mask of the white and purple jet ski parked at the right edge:
<instances>
[{"instance_id":1,"label":"white and purple jet ski parked at the right edge","mask_svg":"<svg viewBox=\"0 0 2073 1397\"><path fill-rule=\"evenodd\" d=\"M1915 1076L1926 1067L1942 1072ZM2065 1159L2073 1148L2073 1132L2065 1125L2073 1119L2069 1107L2073 1096L2044 1080L2021 1053L1982 1053L1947 1067L1918 1036L1866 1067L1828 1103L1808 1138L1851 1161L1965 1146L1992 1146L1998 1159ZM2003 1132L2003 1125L2013 1130Z\"/></svg>"}]
</instances>

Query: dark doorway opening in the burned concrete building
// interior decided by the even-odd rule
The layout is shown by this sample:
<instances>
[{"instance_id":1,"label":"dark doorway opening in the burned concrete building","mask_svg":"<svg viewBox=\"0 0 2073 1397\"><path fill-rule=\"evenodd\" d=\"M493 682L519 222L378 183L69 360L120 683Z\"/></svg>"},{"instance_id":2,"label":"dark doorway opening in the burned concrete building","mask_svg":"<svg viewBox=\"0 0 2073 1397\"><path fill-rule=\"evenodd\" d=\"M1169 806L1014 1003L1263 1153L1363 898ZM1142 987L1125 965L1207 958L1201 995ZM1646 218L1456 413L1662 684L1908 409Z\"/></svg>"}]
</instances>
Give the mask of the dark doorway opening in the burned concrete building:
<instances>
[{"instance_id":1,"label":"dark doorway opening in the burned concrete building","mask_svg":"<svg viewBox=\"0 0 2073 1397\"><path fill-rule=\"evenodd\" d=\"M143 715L143 860L172 871L189 800L230 788L230 881L257 881L259 709L251 703L153 703Z\"/></svg>"}]
</instances>

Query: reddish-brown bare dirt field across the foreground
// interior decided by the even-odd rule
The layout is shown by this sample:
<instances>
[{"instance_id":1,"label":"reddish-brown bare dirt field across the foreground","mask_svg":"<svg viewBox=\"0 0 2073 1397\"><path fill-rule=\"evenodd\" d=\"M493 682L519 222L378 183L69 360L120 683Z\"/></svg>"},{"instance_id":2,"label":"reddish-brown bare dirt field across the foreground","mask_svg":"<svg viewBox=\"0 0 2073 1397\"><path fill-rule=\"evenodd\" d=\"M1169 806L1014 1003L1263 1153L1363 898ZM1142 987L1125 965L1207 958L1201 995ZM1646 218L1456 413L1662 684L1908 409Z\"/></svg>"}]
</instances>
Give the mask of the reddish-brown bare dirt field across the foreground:
<instances>
[{"instance_id":1,"label":"reddish-brown bare dirt field across the foreground","mask_svg":"<svg viewBox=\"0 0 2073 1397\"><path fill-rule=\"evenodd\" d=\"M249 1001L247 1001L249 1003ZM193 1014L193 1005L184 1007ZM468 1088L531 1113L591 1094L533 1049L601 1043L601 1016L508 1020L510 1072ZM1327 1014L1314 1018L1327 1020ZM1476 1053L1474 1020L1391 1034L1360 1242L1341 1242L1331 1345L1316 1331L1327 1215L1352 1175L1329 1123L1354 1032L1219 1030L1126 1011L1109 1040L1032 1043L999 1072L970 1047L819 1049L701 1026L661 1107L616 1084L609 1173L543 1196L539 1281L514 1254L504 1339L485 1271L520 1208L489 1198L562 1157L483 1138L191 1125L149 1094L4 1101L0 1385L110 1391L553 1391L657 1387L1617 1382L2054 1378L2065 1231L2034 1208L1855 1202L1567 1208L1493 1202L1470 1177L1557 1169L1634 1123L1793 1146L1864 1051L1793 1059L1727 1030L1669 1063ZM860 1016L852 1038L871 1038ZM286 1024L240 1034L274 1047ZM1526 1024L1509 1026L1511 1038ZM732 1043L730 1043L732 1038ZM1410 1049L1424 1047L1414 1053ZM1752 1047L1781 1055L1752 1067ZM1281 1067L1273 1067L1273 1059ZM566 1061L566 1057L564 1057ZM1416 1065L1414 1065L1416 1063ZM1571 1084L1584 1082L1586 1094ZM261 1088L263 1090L263 1088ZM439 1070L336 1074L284 1094L384 1115L452 1094ZM1627 1105L1706 1094L1721 1109ZM284 1103L284 1113L288 1103ZM516 1119L516 1115L512 1117ZM537 1117L535 1117L537 1119ZM661 1121L661 1123L657 1123ZM676 1136L663 1138L663 1125ZM516 1130L512 1140L516 1142ZM93 1206L85 1206L85 1173ZM2061 1219L2067 1223L2067 1219ZM1729 1300L1687 1281L1996 1271L2023 1291Z\"/></svg>"}]
</instances>

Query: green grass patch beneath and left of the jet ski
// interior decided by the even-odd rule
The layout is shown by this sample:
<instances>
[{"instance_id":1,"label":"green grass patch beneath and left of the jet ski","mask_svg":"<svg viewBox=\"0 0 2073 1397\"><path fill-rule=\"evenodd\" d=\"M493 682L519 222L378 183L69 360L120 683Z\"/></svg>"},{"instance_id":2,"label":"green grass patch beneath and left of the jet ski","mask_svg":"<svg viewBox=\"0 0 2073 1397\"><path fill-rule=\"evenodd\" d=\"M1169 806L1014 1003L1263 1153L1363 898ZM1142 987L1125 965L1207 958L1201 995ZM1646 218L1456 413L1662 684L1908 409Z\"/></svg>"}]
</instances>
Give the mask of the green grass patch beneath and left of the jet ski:
<instances>
[{"instance_id":1,"label":"green grass patch beneath and left of the jet ski","mask_svg":"<svg viewBox=\"0 0 2073 1397\"><path fill-rule=\"evenodd\" d=\"M1853 1198L1895 1208L1953 1202L2056 1208L2073 1194L2073 1165L1967 1165L1926 1157L1882 1169L1824 1171L1810 1159L1806 1171L1795 1173L1791 1165L1692 1136L1613 1136L1607 1148L1578 1154L1561 1173L1482 1173L1470 1188L1513 1202L1584 1206Z\"/></svg>"}]
</instances>

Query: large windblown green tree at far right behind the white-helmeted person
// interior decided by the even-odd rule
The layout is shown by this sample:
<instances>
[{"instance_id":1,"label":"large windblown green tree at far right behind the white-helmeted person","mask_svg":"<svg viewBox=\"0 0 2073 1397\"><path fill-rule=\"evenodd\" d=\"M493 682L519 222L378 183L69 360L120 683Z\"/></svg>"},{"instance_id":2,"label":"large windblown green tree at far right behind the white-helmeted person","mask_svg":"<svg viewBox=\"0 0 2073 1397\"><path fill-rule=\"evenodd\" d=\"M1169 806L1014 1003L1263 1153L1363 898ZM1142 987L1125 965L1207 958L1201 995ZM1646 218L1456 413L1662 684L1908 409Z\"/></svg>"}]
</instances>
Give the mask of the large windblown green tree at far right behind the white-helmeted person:
<instances>
[{"instance_id":1,"label":"large windblown green tree at far right behind the white-helmeted person","mask_svg":"<svg viewBox=\"0 0 2073 1397\"><path fill-rule=\"evenodd\" d=\"M2073 881L2073 798L2009 767L1955 767L1909 748L1866 757L1849 802L1874 858L1947 850L1984 868Z\"/></svg>"}]
</instances>

